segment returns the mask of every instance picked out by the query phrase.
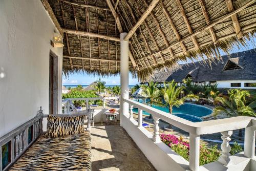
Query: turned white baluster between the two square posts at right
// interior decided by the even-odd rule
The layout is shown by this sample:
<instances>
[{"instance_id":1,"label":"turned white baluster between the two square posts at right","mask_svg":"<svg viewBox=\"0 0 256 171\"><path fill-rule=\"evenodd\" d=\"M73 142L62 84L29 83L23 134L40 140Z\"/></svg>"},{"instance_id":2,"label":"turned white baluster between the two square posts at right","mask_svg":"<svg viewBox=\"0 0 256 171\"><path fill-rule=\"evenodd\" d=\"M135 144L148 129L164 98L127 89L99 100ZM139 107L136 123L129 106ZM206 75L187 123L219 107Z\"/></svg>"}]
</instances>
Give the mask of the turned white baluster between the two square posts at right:
<instances>
[{"instance_id":1,"label":"turned white baluster between the two square posts at right","mask_svg":"<svg viewBox=\"0 0 256 171\"><path fill-rule=\"evenodd\" d=\"M221 139L223 140L221 144L221 156L218 161L226 166L232 163L230 159L229 152L231 151L231 147L229 145L229 141L231 140L229 137L232 135L233 131L224 131L221 132Z\"/></svg>"}]
</instances>

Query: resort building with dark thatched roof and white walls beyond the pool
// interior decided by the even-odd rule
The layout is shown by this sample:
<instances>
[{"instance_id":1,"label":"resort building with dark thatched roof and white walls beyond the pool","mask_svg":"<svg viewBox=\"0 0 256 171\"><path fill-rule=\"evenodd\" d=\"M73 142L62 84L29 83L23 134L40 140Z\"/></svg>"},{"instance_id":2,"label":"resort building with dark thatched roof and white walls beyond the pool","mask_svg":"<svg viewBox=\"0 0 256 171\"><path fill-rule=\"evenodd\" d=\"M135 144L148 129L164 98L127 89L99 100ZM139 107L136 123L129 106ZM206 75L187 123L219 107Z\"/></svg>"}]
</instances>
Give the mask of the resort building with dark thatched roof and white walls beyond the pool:
<instances>
[{"instance_id":1,"label":"resort building with dark thatched roof and white walls beyond the pool","mask_svg":"<svg viewBox=\"0 0 256 171\"><path fill-rule=\"evenodd\" d=\"M172 81L182 85L183 79L190 77L193 84L205 86L217 84L218 88L256 89L256 49L233 53L208 61L197 61L179 65L176 71L162 70L155 74L154 82Z\"/></svg>"}]
</instances>

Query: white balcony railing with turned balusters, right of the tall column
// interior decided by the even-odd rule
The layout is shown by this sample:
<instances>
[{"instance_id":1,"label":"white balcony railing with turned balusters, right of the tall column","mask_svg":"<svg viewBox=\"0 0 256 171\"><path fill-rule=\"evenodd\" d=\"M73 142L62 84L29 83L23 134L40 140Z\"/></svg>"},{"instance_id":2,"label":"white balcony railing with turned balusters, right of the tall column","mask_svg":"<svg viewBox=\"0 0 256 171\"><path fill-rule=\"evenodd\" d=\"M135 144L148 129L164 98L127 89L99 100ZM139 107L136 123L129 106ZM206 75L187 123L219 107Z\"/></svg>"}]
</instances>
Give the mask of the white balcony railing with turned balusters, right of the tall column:
<instances>
[{"instance_id":1,"label":"white balcony railing with turned balusters, right of the tall column","mask_svg":"<svg viewBox=\"0 0 256 171\"><path fill-rule=\"evenodd\" d=\"M175 115L170 115L169 113L160 111L158 109L152 108L151 106L139 103L137 101L131 99L123 98L123 102L129 103L131 106L131 110L135 106L138 108L138 122L133 119L133 113L130 112L130 116L126 116L127 119L130 120L134 125L137 125L143 134L148 136L146 130L142 128L142 111L152 114L154 118L154 133L152 136L152 141L158 146L160 146L161 139L159 136L159 119L168 122L176 127L179 127L181 130L184 130L189 133L189 168L191 170L199 170L201 166L199 166L199 155L200 155L200 135L203 134L213 134L213 133L221 133L222 136L222 144L221 144L221 156L219 158L219 163L224 166L229 166L232 164L232 158L229 154L231 148L229 145L230 136L232 135L233 130L245 129L245 140L244 140L244 157L246 158L254 158L255 151L255 127L256 127L256 119L252 117L232 117L226 119L218 119L218 120L210 120L210 121L202 121L202 122L191 122L186 119L177 117ZM131 127L131 124L129 125ZM129 127L123 125L124 129L130 134L130 136L134 139L132 132L130 133ZM137 131L138 131L137 130ZM133 130L134 132L134 130ZM148 136L151 138L150 136ZM135 140L136 141L136 140ZM139 146L138 142L136 142ZM141 142L143 143L143 142ZM161 145L162 146L162 145ZM140 147L140 146L139 146ZM143 148L143 147L142 147ZM143 152L143 149L141 149ZM150 158L147 157L151 162ZM176 160L173 158L173 160ZM180 160L180 159L179 159ZM184 159L185 160L185 159ZM187 169L186 161L177 161L176 163L183 163L182 167ZM155 165L155 164L154 164Z\"/></svg>"}]
</instances>

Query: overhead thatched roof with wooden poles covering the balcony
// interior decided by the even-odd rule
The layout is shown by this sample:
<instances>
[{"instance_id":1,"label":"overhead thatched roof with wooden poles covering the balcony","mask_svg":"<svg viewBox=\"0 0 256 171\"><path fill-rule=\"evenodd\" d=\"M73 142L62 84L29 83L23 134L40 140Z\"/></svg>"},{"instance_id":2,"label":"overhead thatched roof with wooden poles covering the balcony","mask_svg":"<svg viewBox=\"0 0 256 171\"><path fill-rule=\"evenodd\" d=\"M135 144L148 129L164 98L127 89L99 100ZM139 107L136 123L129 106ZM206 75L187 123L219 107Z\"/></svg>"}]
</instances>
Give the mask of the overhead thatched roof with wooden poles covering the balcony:
<instances>
[{"instance_id":1,"label":"overhead thatched roof with wooden poles covering the balcony","mask_svg":"<svg viewBox=\"0 0 256 171\"><path fill-rule=\"evenodd\" d=\"M41 1L49 12L47 0ZM130 71L145 80L155 69L173 67L187 58L202 54L220 58L219 49L228 52L238 42L244 45L256 27L255 0L48 2L60 32L65 32L65 74L119 73L120 32L131 33Z\"/></svg>"}]
</instances>

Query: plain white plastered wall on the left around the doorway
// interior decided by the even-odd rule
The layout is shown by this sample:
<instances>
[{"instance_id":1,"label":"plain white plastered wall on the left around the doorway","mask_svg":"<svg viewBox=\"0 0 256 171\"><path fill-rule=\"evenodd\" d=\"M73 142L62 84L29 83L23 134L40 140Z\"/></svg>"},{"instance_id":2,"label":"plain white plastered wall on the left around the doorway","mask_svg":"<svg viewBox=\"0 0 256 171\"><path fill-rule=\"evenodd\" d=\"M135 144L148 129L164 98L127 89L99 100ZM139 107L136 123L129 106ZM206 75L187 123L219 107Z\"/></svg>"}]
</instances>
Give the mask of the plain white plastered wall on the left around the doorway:
<instances>
[{"instance_id":1,"label":"plain white plastered wall on the left around the doorway","mask_svg":"<svg viewBox=\"0 0 256 171\"><path fill-rule=\"evenodd\" d=\"M49 108L49 53L58 56L61 108L62 48L53 48L54 25L41 2L0 1L0 137ZM0 71L1 73L1 71Z\"/></svg>"}]
</instances>

